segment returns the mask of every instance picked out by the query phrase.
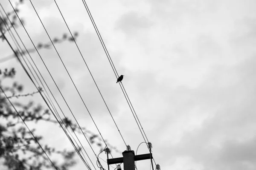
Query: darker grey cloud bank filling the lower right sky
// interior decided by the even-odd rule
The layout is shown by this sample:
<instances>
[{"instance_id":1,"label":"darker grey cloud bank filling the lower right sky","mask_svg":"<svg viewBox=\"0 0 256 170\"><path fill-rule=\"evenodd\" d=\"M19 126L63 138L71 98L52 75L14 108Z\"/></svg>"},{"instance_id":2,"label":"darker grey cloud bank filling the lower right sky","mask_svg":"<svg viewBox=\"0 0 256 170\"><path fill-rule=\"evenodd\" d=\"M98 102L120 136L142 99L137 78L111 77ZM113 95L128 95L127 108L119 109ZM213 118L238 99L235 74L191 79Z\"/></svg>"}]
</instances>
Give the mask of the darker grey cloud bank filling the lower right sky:
<instances>
[{"instance_id":1,"label":"darker grey cloud bank filling the lower right sky","mask_svg":"<svg viewBox=\"0 0 256 170\"><path fill-rule=\"evenodd\" d=\"M183 101L185 108L177 100L169 100L179 115L171 114L160 122L161 129L165 129L163 142L169 139L168 133L176 141L168 149L171 158L189 156L209 170L256 167L252 152L256 147L256 108L255 97L251 95L255 93L256 80L252 79L255 64L255 57L251 57L236 66L218 67L198 88L170 93L188 96L186 104ZM199 121L200 117L204 119L199 126L191 124L193 118ZM170 122L166 123L166 119ZM175 131L181 131L182 135L174 136Z\"/></svg>"}]
</instances>

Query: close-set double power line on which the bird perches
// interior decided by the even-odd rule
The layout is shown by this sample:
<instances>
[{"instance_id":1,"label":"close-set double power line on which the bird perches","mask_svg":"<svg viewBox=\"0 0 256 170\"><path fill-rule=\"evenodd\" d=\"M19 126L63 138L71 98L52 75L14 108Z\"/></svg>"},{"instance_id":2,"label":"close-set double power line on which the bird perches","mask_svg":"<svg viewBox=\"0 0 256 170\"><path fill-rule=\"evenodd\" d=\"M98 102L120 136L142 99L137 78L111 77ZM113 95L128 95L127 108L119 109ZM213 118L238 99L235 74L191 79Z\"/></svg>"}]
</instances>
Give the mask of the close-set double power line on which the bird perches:
<instances>
[{"instance_id":1,"label":"close-set double power line on which the bird perches","mask_svg":"<svg viewBox=\"0 0 256 170\"><path fill-rule=\"evenodd\" d=\"M112 67L112 69L113 69L113 71L114 71L114 74L115 74L116 78L118 78L119 76L118 76L118 73L117 73L117 71L116 71L116 68L115 68L115 66L114 66L114 64L113 64L113 61L112 61L112 59L111 59L111 57L110 57L110 55L109 55L109 53L108 53L108 50L107 50L107 48L106 48L106 46L105 46L105 43L104 43L104 41L103 41L103 39L102 39L102 37L101 37L101 35L100 35L100 33L99 33L99 30L98 30L98 28L97 28L97 26L96 26L96 23L95 23L94 20L93 20L93 17L92 17L92 15L91 15L91 13L90 13L90 10L89 10L88 6L87 6L87 3L85 2L85 0L82 0L82 2L84 3L84 7L85 7L85 9L86 9L86 11L87 11L87 13L88 13L88 15L89 15L89 17L90 17L91 22L93 23L93 27L94 27L94 29L95 29L95 31L96 31L98 37L99 37L99 40L100 40L100 42L101 42L101 44L102 44L103 49L104 49L104 51L105 51L105 53L106 53L106 55L107 55L107 57L108 57L108 61L109 61L110 64L111 64L111 67ZM123 89L122 89L122 92L123 92L123 94L124 94L124 96L125 96L126 101L128 102L128 100L129 100L129 102L130 102L130 104L131 104L131 101L130 101L130 99L129 99L129 97L128 97L128 94L127 94L126 91L125 91L125 88L124 88L122 82L121 82L121 84L119 83L119 85L120 85L121 89L123 88ZM121 86L121 85L122 85L122 86ZM128 100L127 100L126 96L127 96ZM141 128L142 128L142 130L143 130L143 127L142 127L142 125L141 125L141 123L140 123L140 120L139 120L139 118L138 118L138 116L137 116L137 114L136 114L136 112L135 112L135 110L134 110L132 104L131 104L131 106L130 106L129 102L128 102L128 105L129 105L130 109L132 108L132 109L131 109L131 112L132 112L133 116L134 116L134 113L135 113L135 115L136 115L136 117L137 117L137 119L138 119L138 122L139 122L139 124L140 124L140 126L141 126ZM132 110L133 110L133 111L132 111ZM133 112L134 112L134 113L133 113ZM137 122L135 116L134 116L134 119L135 119L135 121ZM140 126L139 126L138 122L137 122L137 125L138 125L138 127L139 127L139 129L140 129ZM146 136L146 134L145 134L145 131L143 130L144 135L143 135L143 133L142 133L141 130L140 130L140 132L141 132L141 134L142 134L142 136L143 136L143 139L145 140L145 138L144 138L144 135L145 135L145 137L146 137L146 139L147 139L147 141L148 141L148 138L147 138L147 136ZM145 140L145 142L146 142L146 140ZM155 163L155 164L156 164L156 163Z\"/></svg>"}]
</instances>

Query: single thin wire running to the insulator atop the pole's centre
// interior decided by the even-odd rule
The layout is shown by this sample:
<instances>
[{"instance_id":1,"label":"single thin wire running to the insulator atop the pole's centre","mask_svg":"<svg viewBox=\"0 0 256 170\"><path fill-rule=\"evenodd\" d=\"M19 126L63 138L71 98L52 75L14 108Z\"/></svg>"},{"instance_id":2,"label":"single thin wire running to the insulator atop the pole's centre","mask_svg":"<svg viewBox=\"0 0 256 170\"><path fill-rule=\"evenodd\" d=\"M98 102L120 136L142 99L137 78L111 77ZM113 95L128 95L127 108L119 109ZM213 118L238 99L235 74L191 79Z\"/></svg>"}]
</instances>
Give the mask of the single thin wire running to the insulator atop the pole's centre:
<instances>
[{"instance_id":1,"label":"single thin wire running to the insulator atop the pole's centre","mask_svg":"<svg viewBox=\"0 0 256 170\"><path fill-rule=\"evenodd\" d=\"M56 3L56 1L55 1L55 0L54 0L54 2L55 2L55 4L56 4L56 6L57 6L58 10L60 11L61 17L63 18L63 20L64 20L64 22L65 22L65 24L66 24L66 26L67 26L67 28L68 28L68 30L69 30L69 32L70 32L70 34L71 34L71 36L72 36L72 38L73 38L73 40L74 40L75 44L76 44L76 47L78 48L79 53L81 54L82 59L84 60L84 57L83 57L83 55L82 55L82 53L81 53L81 51L80 51L80 49L79 49L79 47L78 47L78 45L77 45L77 43L76 43L76 40L75 40L75 39L74 39L74 37L73 37L73 34L72 34L72 33L71 33L71 31L70 31L69 26L67 25L66 20L64 19L64 16L63 16L63 15L62 15L62 13L61 13L60 8L58 7L58 4ZM93 75L92 75L92 73L90 72L90 69L89 69L89 67L88 67L87 63L85 62L85 60L84 60L84 63L85 63L85 65L86 65L86 67L87 67L87 69L88 69L88 71L89 71L89 73L90 73L91 77L93 78ZM102 94L101 94L101 92L100 92L100 90L99 90L99 87L98 87L98 85L96 84L96 81L95 81L95 79L94 79L94 78L93 78L93 82L95 83L95 85L96 85L96 87L97 87L97 89L98 89L98 91L99 91L99 94L101 95L101 97L102 97L102 99L103 99L103 101L104 101L104 103L105 103L105 105L106 105L106 107L107 107L107 109L108 109L108 112L110 113L110 115L111 115L111 117L112 117L112 119L113 119L113 122L114 122L114 123L115 123L115 125L116 125L116 122L115 122L115 120L114 120L114 118L113 118L113 116L112 116L112 114L111 114L111 112L110 112L110 110L109 110L109 108L108 108L108 105L107 105L107 103L105 102L105 99L103 98L103 96L102 96ZM123 140L123 141L124 141L124 143L125 143L125 140L124 140L124 138L123 138L123 136L122 136L122 134L121 134L121 132L120 132L119 128L117 127L117 125L116 125L116 128L117 128L117 130L119 131L119 134L120 134L120 136L122 137L122 140ZM127 145L126 145L126 143L125 143L125 146L127 146Z\"/></svg>"}]
</instances>

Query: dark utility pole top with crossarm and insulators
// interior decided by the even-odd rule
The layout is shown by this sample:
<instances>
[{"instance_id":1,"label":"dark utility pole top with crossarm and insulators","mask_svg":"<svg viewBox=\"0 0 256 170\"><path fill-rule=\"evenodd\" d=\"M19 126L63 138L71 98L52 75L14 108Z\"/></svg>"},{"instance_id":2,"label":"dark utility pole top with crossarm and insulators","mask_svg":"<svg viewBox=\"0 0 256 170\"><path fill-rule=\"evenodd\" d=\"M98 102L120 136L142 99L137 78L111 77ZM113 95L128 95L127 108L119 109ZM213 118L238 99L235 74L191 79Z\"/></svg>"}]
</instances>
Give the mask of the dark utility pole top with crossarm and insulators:
<instances>
[{"instance_id":1,"label":"dark utility pole top with crossarm and insulators","mask_svg":"<svg viewBox=\"0 0 256 170\"><path fill-rule=\"evenodd\" d=\"M127 150L125 150L122 153L123 157L107 159L108 167L109 167L110 164L124 163L124 170L135 170L135 161L151 159L151 162L152 162L152 159L153 159L153 156L152 156L152 153L151 153L152 145L151 145L150 142L148 143L148 148L150 150L150 153L142 154L142 155L135 155L134 150L131 150L131 147L129 145L127 145ZM152 165L152 167L153 167L153 165ZM157 164L156 169L160 170L159 164ZM117 166L117 170L121 170L120 165Z\"/></svg>"}]
</instances>

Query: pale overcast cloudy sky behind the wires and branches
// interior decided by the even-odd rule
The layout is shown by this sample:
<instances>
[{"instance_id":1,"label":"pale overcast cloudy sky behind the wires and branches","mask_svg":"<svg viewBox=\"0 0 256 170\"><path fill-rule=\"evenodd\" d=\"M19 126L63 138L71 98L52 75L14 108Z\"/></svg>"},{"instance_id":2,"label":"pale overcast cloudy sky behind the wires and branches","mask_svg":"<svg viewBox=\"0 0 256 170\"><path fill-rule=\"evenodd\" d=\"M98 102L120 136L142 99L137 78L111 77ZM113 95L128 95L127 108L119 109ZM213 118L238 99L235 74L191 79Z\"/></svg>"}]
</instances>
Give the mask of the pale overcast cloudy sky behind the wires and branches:
<instances>
[{"instance_id":1,"label":"pale overcast cloudy sky behind the wires and branches","mask_svg":"<svg viewBox=\"0 0 256 170\"><path fill-rule=\"evenodd\" d=\"M82 1L56 2L71 31L79 32L81 53L125 142L136 151L143 137ZM256 169L255 0L86 2L116 70L125 75L122 83L162 170ZM7 11L11 10L8 0L1 3ZM68 33L54 0L32 3L51 38ZM28 0L20 6L20 17L26 21L25 27L35 44L49 41ZM24 29L20 27L18 32L26 47L32 48ZM102 136L119 150L125 150L76 45L64 42L56 48ZM1 42L0 51L0 57L12 54L6 42ZM79 124L98 133L54 48L39 53ZM40 57L36 53L32 57L61 108L72 118ZM25 92L36 90L15 59L0 63L0 68L5 67L17 69L17 80L25 85ZM44 105L39 95L33 99ZM44 142L72 148L58 127L37 127L37 133L45 136ZM95 160L86 140L79 138ZM148 153L145 144L138 150L138 154L143 153ZM113 152L113 156L122 154ZM101 157L106 159L105 153ZM73 170L86 168L81 159L77 160ZM149 169L150 161L138 161L137 167Z\"/></svg>"}]
</instances>

